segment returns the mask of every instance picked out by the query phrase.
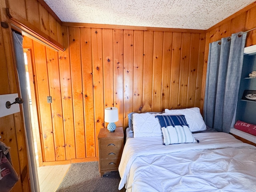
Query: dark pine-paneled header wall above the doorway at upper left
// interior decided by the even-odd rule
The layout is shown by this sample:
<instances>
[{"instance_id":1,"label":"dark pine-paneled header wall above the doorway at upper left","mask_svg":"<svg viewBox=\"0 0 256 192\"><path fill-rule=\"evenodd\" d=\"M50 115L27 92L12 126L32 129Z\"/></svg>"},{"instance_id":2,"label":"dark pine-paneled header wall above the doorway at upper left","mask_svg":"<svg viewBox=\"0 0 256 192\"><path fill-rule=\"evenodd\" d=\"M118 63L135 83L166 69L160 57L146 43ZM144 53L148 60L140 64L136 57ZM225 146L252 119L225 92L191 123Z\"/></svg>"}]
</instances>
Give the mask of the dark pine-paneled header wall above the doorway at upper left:
<instances>
[{"instance_id":1,"label":"dark pine-paneled header wall above the doorway at upper left","mask_svg":"<svg viewBox=\"0 0 256 192\"><path fill-rule=\"evenodd\" d=\"M5 0L11 22L62 48L62 21L44 0Z\"/></svg>"}]
</instances>

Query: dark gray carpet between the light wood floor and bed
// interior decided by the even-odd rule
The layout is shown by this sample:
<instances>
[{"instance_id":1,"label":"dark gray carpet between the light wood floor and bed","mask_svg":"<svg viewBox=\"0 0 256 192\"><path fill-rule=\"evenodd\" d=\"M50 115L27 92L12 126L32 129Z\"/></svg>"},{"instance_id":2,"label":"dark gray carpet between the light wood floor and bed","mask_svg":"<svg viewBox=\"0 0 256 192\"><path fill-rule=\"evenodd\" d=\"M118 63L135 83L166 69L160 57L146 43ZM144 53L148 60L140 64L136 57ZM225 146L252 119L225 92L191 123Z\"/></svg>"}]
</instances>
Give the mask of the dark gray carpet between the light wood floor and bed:
<instances>
[{"instance_id":1,"label":"dark gray carpet between the light wood floor and bed","mask_svg":"<svg viewBox=\"0 0 256 192\"><path fill-rule=\"evenodd\" d=\"M118 190L119 172L108 172L100 178L98 162L71 164L56 192L125 192Z\"/></svg>"}]
</instances>

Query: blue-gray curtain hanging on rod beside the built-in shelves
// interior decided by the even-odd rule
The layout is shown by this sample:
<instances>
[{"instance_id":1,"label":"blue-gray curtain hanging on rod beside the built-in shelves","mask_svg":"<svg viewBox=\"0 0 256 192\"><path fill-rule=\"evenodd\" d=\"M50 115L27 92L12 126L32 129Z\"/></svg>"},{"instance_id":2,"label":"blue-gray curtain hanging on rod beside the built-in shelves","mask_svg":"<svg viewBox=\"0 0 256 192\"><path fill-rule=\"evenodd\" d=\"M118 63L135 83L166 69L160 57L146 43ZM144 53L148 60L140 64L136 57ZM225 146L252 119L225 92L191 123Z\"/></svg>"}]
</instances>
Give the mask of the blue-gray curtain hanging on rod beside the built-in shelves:
<instances>
[{"instance_id":1,"label":"blue-gray curtain hanging on rod beside the built-in shelves","mask_svg":"<svg viewBox=\"0 0 256 192\"><path fill-rule=\"evenodd\" d=\"M209 44L204 122L220 132L228 133L233 126L246 41L246 33L240 33Z\"/></svg>"}]
</instances>

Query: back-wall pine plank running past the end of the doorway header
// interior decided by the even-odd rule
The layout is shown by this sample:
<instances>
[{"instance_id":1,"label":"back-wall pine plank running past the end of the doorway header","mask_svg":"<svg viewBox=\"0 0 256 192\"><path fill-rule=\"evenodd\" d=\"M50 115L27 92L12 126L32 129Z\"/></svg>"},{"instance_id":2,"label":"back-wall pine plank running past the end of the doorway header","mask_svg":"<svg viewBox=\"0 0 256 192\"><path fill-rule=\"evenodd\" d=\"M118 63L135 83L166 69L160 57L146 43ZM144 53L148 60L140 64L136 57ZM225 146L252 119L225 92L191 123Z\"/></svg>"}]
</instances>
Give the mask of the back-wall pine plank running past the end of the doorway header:
<instances>
[{"instance_id":1,"label":"back-wall pine plank running past the end of the doorway header","mask_svg":"<svg viewBox=\"0 0 256 192\"><path fill-rule=\"evenodd\" d=\"M68 28L62 27L63 45L66 51L59 52L59 68L60 68L60 89L62 96L62 114L64 124L64 137L66 147L66 160L76 158L75 132L74 132L74 116L72 102L72 83L70 68L70 52L68 43Z\"/></svg>"}]
</instances>

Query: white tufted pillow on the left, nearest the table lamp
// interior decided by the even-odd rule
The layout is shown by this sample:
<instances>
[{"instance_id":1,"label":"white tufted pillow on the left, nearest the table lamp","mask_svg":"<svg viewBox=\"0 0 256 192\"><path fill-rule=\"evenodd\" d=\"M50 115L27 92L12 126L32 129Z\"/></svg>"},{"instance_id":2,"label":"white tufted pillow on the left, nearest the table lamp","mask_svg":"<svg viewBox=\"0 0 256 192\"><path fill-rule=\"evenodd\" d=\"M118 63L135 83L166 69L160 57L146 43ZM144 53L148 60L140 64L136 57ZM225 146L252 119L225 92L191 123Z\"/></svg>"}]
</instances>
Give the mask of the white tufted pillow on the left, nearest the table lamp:
<instances>
[{"instance_id":1,"label":"white tufted pillow on the left, nearest the table lamp","mask_svg":"<svg viewBox=\"0 0 256 192\"><path fill-rule=\"evenodd\" d=\"M160 123L155 115L150 113L132 114L134 138L163 135Z\"/></svg>"}]
</instances>

